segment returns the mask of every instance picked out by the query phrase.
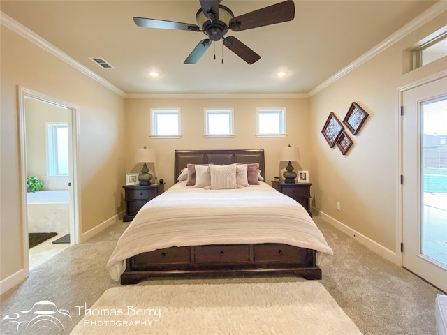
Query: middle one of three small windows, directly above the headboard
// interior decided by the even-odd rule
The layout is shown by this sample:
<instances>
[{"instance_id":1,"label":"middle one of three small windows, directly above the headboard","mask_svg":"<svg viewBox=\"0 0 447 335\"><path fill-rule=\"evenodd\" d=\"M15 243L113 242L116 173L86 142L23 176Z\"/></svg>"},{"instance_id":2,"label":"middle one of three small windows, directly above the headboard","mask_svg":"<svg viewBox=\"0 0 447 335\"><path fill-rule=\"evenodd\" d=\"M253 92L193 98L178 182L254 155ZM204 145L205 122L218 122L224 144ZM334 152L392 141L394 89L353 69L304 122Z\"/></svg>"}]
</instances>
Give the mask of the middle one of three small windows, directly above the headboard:
<instances>
[{"instance_id":1,"label":"middle one of three small windows, directly above the headboard","mask_svg":"<svg viewBox=\"0 0 447 335\"><path fill-rule=\"evenodd\" d=\"M205 109L205 136L234 136L233 109Z\"/></svg>"}]
</instances>

